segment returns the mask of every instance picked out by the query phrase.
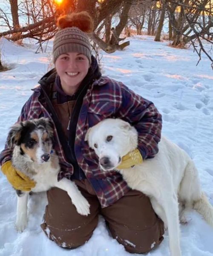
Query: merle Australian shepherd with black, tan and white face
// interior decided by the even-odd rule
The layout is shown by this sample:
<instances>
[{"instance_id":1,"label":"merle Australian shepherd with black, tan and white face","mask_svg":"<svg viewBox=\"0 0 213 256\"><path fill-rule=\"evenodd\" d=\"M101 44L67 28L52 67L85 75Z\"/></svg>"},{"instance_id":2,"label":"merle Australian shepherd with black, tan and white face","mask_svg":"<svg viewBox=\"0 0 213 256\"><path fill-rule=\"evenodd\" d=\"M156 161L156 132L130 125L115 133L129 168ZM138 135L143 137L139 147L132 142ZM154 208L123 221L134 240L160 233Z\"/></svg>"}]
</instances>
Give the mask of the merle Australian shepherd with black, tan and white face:
<instances>
[{"instance_id":1,"label":"merle Australian shepherd with black, tan and white face","mask_svg":"<svg viewBox=\"0 0 213 256\"><path fill-rule=\"evenodd\" d=\"M53 128L47 118L19 122L9 131L7 143L13 148L12 165L34 180L32 192L47 191L51 187L65 190L81 215L89 214L89 203L73 181L58 181L60 171L58 156L52 145ZM27 200L29 192L17 190L16 228L23 231L27 225Z\"/></svg>"}]
</instances>

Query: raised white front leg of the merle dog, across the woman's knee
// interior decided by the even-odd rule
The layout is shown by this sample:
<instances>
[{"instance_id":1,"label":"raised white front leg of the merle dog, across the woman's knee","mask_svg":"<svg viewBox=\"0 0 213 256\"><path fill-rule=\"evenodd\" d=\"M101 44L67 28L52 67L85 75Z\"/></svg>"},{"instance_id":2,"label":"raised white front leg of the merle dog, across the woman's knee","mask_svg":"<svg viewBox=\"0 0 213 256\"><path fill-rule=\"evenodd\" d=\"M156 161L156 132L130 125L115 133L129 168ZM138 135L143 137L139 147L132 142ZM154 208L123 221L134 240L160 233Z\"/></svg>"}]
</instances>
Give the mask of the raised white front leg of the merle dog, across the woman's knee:
<instances>
[{"instance_id":1,"label":"raised white front leg of the merle dog, across the woman's knee","mask_svg":"<svg viewBox=\"0 0 213 256\"><path fill-rule=\"evenodd\" d=\"M79 214L88 215L90 213L89 202L83 197L74 181L63 178L62 180L57 181L55 186L67 192L72 200L72 204L75 205Z\"/></svg>"}]
</instances>

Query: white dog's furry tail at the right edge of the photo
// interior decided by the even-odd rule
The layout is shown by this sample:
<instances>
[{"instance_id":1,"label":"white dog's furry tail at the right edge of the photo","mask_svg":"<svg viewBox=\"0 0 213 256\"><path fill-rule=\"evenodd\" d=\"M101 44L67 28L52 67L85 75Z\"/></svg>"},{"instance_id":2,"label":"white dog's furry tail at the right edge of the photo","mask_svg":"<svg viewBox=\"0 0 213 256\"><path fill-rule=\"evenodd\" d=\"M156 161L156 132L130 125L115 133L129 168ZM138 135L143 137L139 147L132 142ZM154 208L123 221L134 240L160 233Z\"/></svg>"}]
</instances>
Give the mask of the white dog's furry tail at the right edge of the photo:
<instances>
[{"instance_id":1,"label":"white dog's furry tail at the right edge of the photo","mask_svg":"<svg viewBox=\"0 0 213 256\"><path fill-rule=\"evenodd\" d=\"M201 192L201 198L194 202L193 208L213 227L213 207L204 192Z\"/></svg>"}]
</instances>

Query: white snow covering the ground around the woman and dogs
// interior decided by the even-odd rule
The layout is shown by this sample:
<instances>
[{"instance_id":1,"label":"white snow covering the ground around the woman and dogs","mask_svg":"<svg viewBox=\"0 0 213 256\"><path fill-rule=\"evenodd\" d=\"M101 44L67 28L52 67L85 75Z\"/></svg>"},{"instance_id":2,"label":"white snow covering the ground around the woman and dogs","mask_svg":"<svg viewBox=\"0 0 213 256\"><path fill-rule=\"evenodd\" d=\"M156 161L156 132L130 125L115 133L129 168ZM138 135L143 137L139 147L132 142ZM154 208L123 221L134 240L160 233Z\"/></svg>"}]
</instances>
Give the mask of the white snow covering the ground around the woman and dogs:
<instances>
[{"instance_id":1,"label":"white snow covering the ground around the woman and dogs","mask_svg":"<svg viewBox=\"0 0 213 256\"><path fill-rule=\"evenodd\" d=\"M52 42L47 53L35 54L33 41L20 47L2 38L3 60L12 70L0 73L0 150L9 127L31 95L31 88L51 65ZM208 48L208 46L206 45ZM209 49L210 50L210 49ZM199 169L201 186L213 204L213 73L210 61L198 57L192 49L173 49L168 41L134 36L123 52L103 53L103 74L122 81L136 93L155 103L163 116L163 134L183 148ZM47 203L46 194L34 194L29 200L29 223L23 233L14 229L16 195L0 173L0 256L127 256L132 255L107 231L100 216L92 238L75 250L58 247L40 228ZM71 217L72 218L72 217ZM213 256L213 228L196 212L181 225L183 256ZM128 241L132 243L131 241ZM148 256L169 256L168 234Z\"/></svg>"}]
</instances>

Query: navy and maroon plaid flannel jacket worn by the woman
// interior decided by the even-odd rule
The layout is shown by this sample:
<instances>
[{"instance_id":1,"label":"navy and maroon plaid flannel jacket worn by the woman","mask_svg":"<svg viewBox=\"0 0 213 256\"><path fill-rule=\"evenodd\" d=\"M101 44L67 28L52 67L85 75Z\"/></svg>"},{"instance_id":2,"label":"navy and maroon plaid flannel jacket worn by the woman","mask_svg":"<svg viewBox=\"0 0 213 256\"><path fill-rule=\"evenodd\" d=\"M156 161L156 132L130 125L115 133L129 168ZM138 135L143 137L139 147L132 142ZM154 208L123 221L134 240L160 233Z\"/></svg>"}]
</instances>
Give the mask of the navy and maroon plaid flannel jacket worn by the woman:
<instances>
[{"instance_id":1,"label":"navy and maroon plaid flannel jacket worn by the woman","mask_svg":"<svg viewBox=\"0 0 213 256\"><path fill-rule=\"evenodd\" d=\"M22 108L18 122L39 118L52 119L46 110L45 101L40 101L40 86L33 89L33 94ZM42 103L41 103L42 102ZM103 172L99 168L95 152L84 141L89 127L106 118L121 118L138 131L138 149L143 159L154 157L158 152L161 137L161 114L154 104L135 94L121 82L101 76L88 88L83 99L75 136L75 155L79 166L92 184L101 207L107 207L121 198L130 188L118 172ZM73 167L65 159L56 129L54 129L54 148L59 156L61 171L58 179L71 179ZM0 165L10 160L12 150L7 148L0 154Z\"/></svg>"}]
</instances>

